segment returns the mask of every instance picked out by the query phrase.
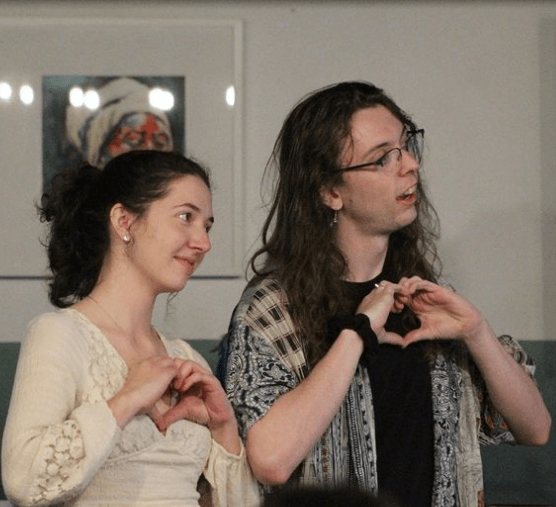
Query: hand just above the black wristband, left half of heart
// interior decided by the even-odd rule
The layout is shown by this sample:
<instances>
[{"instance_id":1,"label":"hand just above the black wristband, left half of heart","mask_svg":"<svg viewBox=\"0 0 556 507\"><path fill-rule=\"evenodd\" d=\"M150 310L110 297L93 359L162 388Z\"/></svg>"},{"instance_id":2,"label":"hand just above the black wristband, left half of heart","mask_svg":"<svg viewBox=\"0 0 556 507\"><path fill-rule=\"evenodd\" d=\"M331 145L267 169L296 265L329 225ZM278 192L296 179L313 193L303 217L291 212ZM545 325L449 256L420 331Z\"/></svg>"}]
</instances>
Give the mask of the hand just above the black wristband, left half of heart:
<instances>
[{"instance_id":1,"label":"hand just above the black wristband, left half of heart","mask_svg":"<svg viewBox=\"0 0 556 507\"><path fill-rule=\"evenodd\" d=\"M363 298L357 308L356 313L364 313L369 317L379 343L404 344L404 339L399 334L384 329L390 312L398 313L404 307L404 303L396 297L399 291L399 284L383 280Z\"/></svg>"}]
</instances>

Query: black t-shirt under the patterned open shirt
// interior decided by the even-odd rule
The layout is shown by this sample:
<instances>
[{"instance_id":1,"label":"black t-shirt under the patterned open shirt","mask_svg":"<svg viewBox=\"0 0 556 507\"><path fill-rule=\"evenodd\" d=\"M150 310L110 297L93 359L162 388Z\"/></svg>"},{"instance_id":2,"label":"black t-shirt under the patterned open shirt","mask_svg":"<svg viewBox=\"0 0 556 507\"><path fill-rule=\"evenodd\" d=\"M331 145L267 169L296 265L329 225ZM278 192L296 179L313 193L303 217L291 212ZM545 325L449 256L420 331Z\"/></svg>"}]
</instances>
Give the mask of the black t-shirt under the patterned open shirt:
<instances>
[{"instance_id":1,"label":"black t-shirt under the patterned open shirt","mask_svg":"<svg viewBox=\"0 0 556 507\"><path fill-rule=\"evenodd\" d=\"M356 308L382 280L346 282ZM386 330L404 336L418 324L390 314ZM378 486L401 507L430 507L434 471L431 380L423 343L407 348L381 344L377 356L363 357L373 393Z\"/></svg>"}]
</instances>

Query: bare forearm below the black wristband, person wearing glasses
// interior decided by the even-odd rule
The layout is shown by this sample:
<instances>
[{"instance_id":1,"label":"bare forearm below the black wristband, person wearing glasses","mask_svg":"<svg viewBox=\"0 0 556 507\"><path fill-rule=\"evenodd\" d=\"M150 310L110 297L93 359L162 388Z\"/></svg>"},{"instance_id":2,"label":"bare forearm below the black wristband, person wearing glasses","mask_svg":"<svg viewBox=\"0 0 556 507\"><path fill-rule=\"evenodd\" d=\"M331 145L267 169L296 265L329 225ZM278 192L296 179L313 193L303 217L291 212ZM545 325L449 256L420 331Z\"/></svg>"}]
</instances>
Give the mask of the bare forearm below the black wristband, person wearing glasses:
<instances>
[{"instance_id":1,"label":"bare forearm below the black wristband, person wearing glasses","mask_svg":"<svg viewBox=\"0 0 556 507\"><path fill-rule=\"evenodd\" d=\"M342 331L310 375L251 427L246 450L260 482L287 481L307 456L345 398L362 351L359 335Z\"/></svg>"}]
</instances>

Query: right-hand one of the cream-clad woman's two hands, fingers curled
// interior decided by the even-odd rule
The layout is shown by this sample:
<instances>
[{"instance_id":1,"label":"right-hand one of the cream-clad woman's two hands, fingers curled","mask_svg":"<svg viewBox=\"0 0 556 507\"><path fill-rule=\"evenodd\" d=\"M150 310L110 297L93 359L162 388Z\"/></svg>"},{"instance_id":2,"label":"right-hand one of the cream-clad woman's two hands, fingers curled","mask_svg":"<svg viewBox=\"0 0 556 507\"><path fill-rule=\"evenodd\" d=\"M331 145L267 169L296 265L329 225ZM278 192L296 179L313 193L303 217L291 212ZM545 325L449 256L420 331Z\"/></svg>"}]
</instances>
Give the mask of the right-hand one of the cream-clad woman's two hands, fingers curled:
<instances>
[{"instance_id":1,"label":"right-hand one of the cream-clad woman's two hands, fingers curled","mask_svg":"<svg viewBox=\"0 0 556 507\"><path fill-rule=\"evenodd\" d=\"M235 421L234 412L218 379L195 361L175 358L178 373L170 388L177 393L176 402L162 414L155 415L159 430L179 419L207 426L211 431Z\"/></svg>"}]
</instances>

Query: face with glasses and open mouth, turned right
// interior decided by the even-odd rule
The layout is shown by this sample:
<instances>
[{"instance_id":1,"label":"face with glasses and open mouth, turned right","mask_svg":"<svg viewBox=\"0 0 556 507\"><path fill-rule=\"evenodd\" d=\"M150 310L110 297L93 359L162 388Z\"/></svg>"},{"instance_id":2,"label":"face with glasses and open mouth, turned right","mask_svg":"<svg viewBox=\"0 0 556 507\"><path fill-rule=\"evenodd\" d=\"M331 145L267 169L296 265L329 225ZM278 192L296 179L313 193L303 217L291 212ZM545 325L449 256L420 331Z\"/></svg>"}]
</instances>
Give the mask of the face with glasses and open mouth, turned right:
<instances>
[{"instance_id":1,"label":"face with glasses and open mouth, turned right","mask_svg":"<svg viewBox=\"0 0 556 507\"><path fill-rule=\"evenodd\" d=\"M406 140L404 126L384 106L356 112L351 135L353 144L346 143L341 167L380 160ZM338 210L339 232L388 236L413 222L417 217L418 170L418 161L402 150L399 161L389 167L344 172L343 183L323 194L325 203Z\"/></svg>"}]
</instances>

